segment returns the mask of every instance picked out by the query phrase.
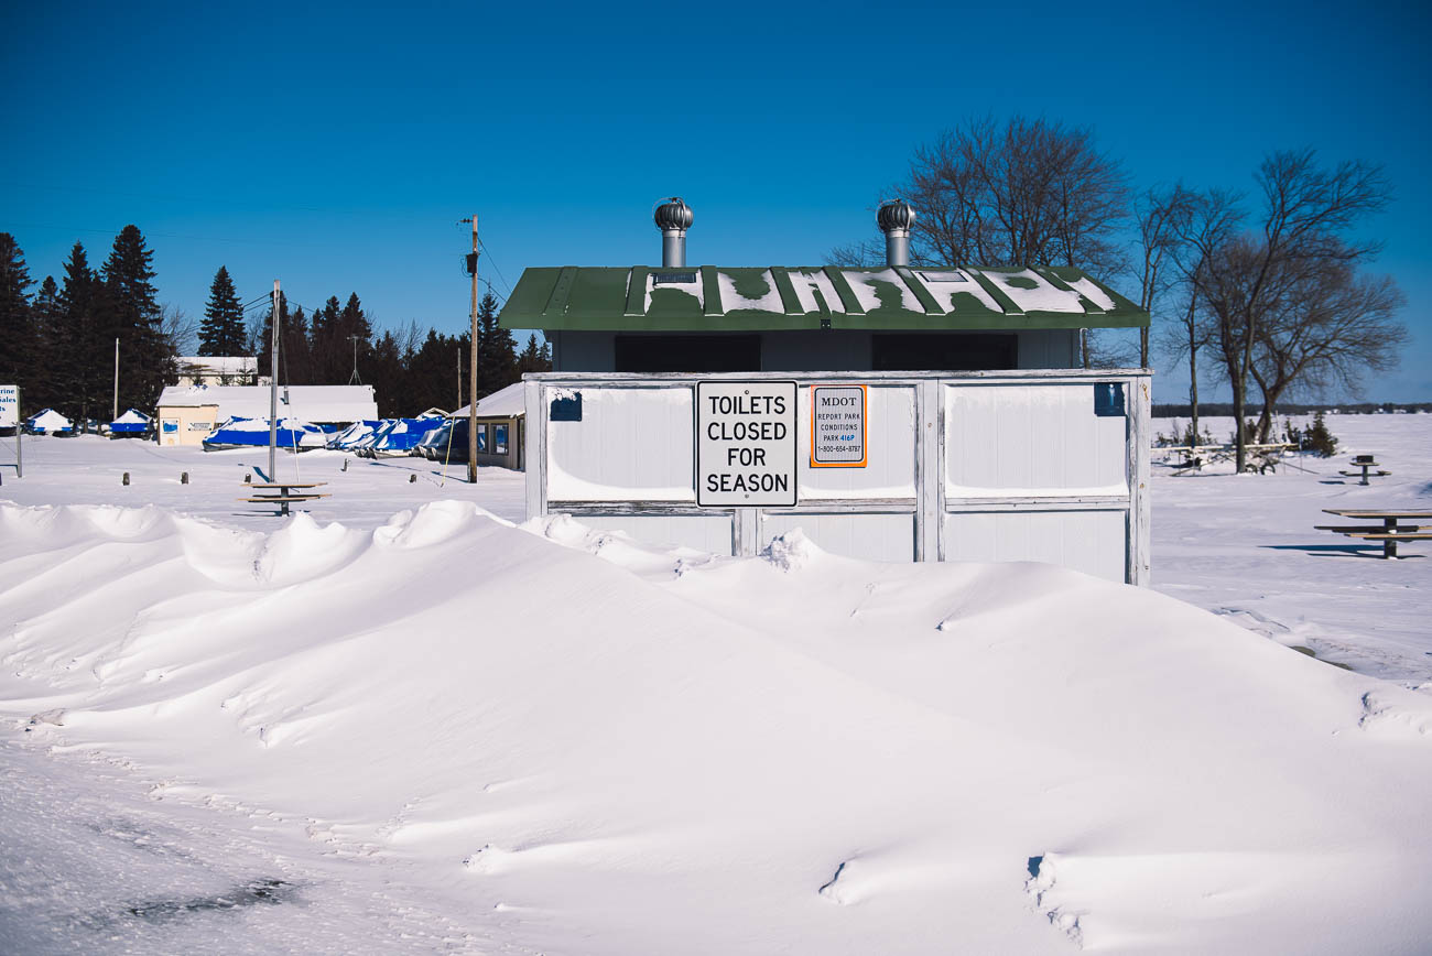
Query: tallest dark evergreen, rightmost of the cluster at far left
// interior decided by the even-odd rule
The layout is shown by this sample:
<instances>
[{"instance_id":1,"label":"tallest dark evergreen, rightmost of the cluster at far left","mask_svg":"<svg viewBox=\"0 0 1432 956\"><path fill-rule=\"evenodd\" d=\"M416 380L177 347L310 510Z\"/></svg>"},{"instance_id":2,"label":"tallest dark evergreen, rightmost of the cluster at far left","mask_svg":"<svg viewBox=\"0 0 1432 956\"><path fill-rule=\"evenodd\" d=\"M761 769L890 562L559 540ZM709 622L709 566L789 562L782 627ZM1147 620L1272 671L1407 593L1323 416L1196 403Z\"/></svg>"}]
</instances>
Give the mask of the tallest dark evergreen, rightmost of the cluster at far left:
<instances>
[{"instance_id":1,"label":"tallest dark evergreen, rightmost of the cluster at far left","mask_svg":"<svg viewBox=\"0 0 1432 956\"><path fill-rule=\"evenodd\" d=\"M119 411L153 408L163 386L178 378L173 349L163 335L163 313L155 298L153 258L143 233L129 225L115 236L102 270L106 293L102 333L110 342L119 339Z\"/></svg>"}]
</instances>

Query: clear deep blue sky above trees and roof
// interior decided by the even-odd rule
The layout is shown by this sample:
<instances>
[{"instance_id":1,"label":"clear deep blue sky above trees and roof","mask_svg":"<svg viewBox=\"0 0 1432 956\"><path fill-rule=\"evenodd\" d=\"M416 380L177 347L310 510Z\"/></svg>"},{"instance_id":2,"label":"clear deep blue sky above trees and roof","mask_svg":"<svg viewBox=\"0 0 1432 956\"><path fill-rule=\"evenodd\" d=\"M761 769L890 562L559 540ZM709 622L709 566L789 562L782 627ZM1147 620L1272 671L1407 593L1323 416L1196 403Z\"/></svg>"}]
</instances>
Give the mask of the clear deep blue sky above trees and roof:
<instances>
[{"instance_id":1,"label":"clear deep blue sky above trees and roof","mask_svg":"<svg viewBox=\"0 0 1432 956\"><path fill-rule=\"evenodd\" d=\"M1415 341L1366 395L1429 399L1429 10L11 3L0 230L39 279L133 222L192 315L222 263L245 301L279 278L457 331L473 212L505 292L526 266L657 260L669 195L696 209L692 262L818 263L876 236L915 146L969 116L1090 126L1140 186L1252 187L1264 153L1313 146L1396 186L1369 232Z\"/></svg>"}]
</instances>

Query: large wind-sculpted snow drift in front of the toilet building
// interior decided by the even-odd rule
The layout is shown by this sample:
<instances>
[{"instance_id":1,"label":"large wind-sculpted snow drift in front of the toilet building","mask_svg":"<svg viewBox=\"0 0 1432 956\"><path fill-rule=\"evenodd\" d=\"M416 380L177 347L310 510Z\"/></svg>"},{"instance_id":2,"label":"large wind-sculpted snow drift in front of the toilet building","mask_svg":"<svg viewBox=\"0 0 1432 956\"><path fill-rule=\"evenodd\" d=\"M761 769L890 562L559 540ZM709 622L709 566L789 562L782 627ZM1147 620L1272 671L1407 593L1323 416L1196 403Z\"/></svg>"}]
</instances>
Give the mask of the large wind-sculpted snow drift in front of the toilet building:
<instances>
[{"instance_id":1,"label":"large wind-sculpted snow drift in front of the toilet building","mask_svg":"<svg viewBox=\"0 0 1432 956\"><path fill-rule=\"evenodd\" d=\"M851 561L798 532L712 558L455 501L271 534L3 505L0 581L0 711L414 863L514 946L1343 953L1432 930L1432 700L1047 565Z\"/></svg>"}]
</instances>

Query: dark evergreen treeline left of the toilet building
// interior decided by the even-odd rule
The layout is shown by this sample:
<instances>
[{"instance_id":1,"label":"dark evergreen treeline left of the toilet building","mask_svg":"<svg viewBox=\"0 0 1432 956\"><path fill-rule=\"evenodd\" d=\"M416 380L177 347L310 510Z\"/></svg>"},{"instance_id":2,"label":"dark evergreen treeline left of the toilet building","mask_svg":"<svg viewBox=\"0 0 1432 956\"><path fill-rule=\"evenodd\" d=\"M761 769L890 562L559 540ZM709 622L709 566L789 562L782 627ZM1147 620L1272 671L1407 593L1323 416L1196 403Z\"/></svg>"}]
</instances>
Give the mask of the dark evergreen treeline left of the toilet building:
<instances>
[{"instance_id":1,"label":"dark evergreen treeline left of the toilet building","mask_svg":"<svg viewBox=\"0 0 1432 956\"><path fill-rule=\"evenodd\" d=\"M63 278L36 283L14 236L0 232L0 384L21 389L27 412L54 408L80 422L106 421L115 401L116 341L119 411L153 411L189 353L256 356L259 375L271 368L272 302L259 295L245 305L229 272L219 266L209 288L203 321L160 305L153 283L153 250L139 228L115 239L99 269L79 242L63 265ZM33 289L32 286L39 285ZM427 408L454 409L470 401L471 335L440 335L410 322L375 332L357 293L339 303L304 309L279 299L279 382L289 385L372 385L378 414L412 415ZM518 353L511 332L497 326L497 299L478 308L478 381L483 398L551 369L551 352L537 336ZM232 381L246 385L253 382Z\"/></svg>"}]
</instances>

